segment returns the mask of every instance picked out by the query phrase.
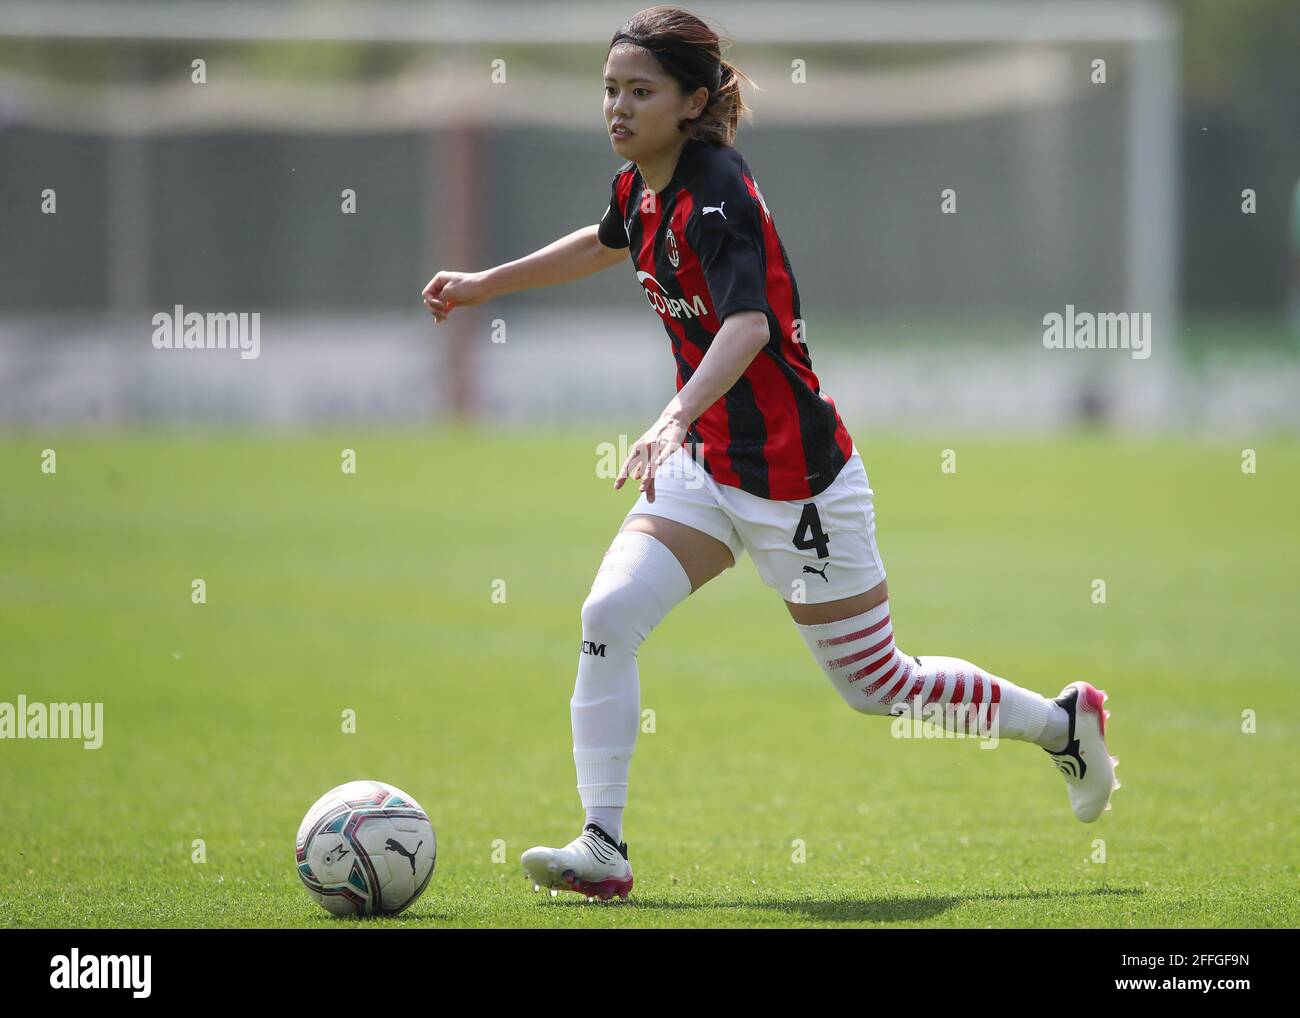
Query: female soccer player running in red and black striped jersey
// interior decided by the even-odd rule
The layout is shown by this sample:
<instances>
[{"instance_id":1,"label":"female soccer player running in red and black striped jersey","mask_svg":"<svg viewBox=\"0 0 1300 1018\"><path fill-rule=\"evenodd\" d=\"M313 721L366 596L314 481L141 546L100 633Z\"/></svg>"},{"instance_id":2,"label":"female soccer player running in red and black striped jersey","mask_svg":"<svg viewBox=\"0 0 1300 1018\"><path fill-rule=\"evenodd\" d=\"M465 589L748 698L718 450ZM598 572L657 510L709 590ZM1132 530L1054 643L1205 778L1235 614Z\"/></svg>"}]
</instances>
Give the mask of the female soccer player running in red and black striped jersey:
<instances>
[{"instance_id":1,"label":"female soccer player running in red and black striped jersey","mask_svg":"<svg viewBox=\"0 0 1300 1018\"><path fill-rule=\"evenodd\" d=\"M931 720L936 710L965 712L982 736L1034 742L1065 775L1083 822L1110 809L1119 787L1105 693L1070 683L1046 699L970 662L894 645L867 473L812 373L772 212L732 147L746 112L738 74L696 16L638 13L604 64L610 143L628 161L599 225L485 272L439 272L424 289L441 322L452 308L568 282L630 255L676 360L676 397L614 482L637 480L641 494L582 605L569 707L586 823L564 848L523 855L534 888L552 894L607 900L632 889L621 839L641 714L637 649L741 551L854 710Z\"/></svg>"}]
</instances>

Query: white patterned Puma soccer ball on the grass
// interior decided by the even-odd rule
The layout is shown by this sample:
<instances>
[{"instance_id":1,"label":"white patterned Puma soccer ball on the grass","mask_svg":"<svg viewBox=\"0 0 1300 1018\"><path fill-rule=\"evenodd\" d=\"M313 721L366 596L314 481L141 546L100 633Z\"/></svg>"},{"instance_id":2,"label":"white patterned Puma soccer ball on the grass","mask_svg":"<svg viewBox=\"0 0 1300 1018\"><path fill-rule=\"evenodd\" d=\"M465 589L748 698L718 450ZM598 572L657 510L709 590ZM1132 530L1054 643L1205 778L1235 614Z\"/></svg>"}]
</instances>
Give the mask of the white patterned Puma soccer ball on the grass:
<instances>
[{"instance_id":1,"label":"white patterned Puma soccer ball on the grass","mask_svg":"<svg viewBox=\"0 0 1300 1018\"><path fill-rule=\"evenodd\" d=\"M307 810L298 876L334 915L396 915L424 892L438 845L420 803L384 781L348 781Z\"/></svg>"}]
</instances>

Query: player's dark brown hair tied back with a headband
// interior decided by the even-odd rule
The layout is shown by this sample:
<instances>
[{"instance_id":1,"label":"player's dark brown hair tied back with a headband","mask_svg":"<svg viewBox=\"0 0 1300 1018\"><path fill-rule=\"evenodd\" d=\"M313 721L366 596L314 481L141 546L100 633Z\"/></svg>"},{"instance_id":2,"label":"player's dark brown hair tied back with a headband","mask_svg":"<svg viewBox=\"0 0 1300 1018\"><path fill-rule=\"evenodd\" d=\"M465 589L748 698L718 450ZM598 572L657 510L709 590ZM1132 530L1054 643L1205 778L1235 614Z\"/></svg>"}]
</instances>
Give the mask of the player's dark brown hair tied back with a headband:
<instances>
[{"instance_id":1,"label":"player's dark brown hair tied back with a headband","mask_svg":"<svg viewBox=\"0 0 1300 1018\"><path fill-rule=\"evenodd\" d=\"M633 14L610 40L632 43L649 51L664 74L677 82L682 95L708 90L708 101L694 120L682 120L679 130L719 146L736 139L736 129L749 107L740 94L740 78L758 88L738 68L722 56L723 40L698 17L680 7L651 7ZM731 40L727 40L728 46ZM606 51L608 56L608 51Z\"/></svg>"}]
</instances>

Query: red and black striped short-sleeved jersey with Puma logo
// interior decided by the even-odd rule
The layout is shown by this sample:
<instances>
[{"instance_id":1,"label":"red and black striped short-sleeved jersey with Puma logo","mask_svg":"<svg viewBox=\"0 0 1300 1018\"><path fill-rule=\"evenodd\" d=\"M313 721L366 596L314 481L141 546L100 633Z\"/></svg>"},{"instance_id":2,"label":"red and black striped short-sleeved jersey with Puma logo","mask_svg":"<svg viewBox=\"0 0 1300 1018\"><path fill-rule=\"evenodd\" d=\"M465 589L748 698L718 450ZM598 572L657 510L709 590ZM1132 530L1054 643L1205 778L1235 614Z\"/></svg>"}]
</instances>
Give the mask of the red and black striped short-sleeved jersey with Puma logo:
<instances>
[{"instance_id":1,"label":"red and black striped short-sleeved jersey with Puma logo","mask_svg":"<svg viewBox=\"0 0 1300 1018\"><path fill-rule=\"evenodd\" d=\"M634 163L618 169L611 191L601 243L630 248L672 343L679 390L728 315L767 316L767 346L692 423L682 445L715 481L760 498L823 491L853 439L812 373L790 260L740 152L690 139L660 192L645 186Z\"/></svg>"}]
</instances>

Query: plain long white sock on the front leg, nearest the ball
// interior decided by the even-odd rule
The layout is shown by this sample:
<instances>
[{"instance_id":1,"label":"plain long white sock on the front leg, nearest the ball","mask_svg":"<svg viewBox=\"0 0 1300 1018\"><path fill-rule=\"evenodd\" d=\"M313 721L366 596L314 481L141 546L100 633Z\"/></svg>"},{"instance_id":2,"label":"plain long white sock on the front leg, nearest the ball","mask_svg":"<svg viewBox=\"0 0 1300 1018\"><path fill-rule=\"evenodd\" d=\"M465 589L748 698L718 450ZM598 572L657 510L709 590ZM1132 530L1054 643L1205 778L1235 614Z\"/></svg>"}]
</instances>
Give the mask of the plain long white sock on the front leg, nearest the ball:
<instances>
[{"instance_id":1,"label":"plain long white sock on the front leg, nearest the ball","mask_svg":"<svg viewBox=\"0 0 1300 1018\"><path fill-rule=\"evenodd\" d=\"M573 763L588 819L615 841L623 839L628 770L641 727L637 649L688 594L690 577L667 545L624 530L610 543L582 602L582 653L569 701ZM593 815L610 809L618 814L602 813L604 822Z\"/></svg>"}]
</instances>

